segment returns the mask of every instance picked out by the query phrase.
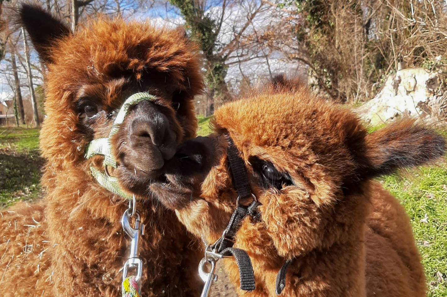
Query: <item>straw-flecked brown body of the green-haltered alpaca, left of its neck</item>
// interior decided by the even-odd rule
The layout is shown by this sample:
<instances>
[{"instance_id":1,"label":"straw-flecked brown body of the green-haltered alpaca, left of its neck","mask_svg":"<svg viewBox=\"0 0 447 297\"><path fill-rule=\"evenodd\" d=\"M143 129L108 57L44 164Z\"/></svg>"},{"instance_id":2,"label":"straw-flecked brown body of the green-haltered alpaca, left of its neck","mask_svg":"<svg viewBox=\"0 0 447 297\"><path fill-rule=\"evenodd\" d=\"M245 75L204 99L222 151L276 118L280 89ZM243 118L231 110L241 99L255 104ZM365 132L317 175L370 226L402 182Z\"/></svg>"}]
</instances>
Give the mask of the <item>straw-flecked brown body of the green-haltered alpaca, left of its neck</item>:
<instances>
[{"instance_id":1,"label":"straw-flecked brown body of the green-haltered alpaca, left of its neck","mask_svg":"<svg viewBox=\"0 0 447 297\"><path fill-rule=\"evenodd\" d=\"M0 227L0 284L9 288L3 296L17 296L12 288L18 286L39 292L42 296L52 296L48 294L48 288L54 249L48 240L44 202L34 205L20 202L1 211ZM25 293L24 290L17 292Z\"/></svg>"}]
</instances>

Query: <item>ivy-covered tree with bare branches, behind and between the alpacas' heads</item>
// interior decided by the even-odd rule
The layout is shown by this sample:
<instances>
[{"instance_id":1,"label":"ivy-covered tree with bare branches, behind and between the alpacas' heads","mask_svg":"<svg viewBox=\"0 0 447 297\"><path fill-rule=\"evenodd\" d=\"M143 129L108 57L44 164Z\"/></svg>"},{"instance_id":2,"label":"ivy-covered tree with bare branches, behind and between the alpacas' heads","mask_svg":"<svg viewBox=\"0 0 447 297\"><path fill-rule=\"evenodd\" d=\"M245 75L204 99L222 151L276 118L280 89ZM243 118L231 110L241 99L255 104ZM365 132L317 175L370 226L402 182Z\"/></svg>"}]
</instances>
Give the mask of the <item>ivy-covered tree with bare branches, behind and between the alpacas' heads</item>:
<instances>
[{"instance_id":1,"label":"ivy-covered tree with bare branches, behind and between the alpacas' heads","mask_svg":"<svg viewBox=\"0 0 447 297\"><path fill-rule=\"evenodd\" d=\"M228 96L228 87L225 77L228 71L228 59L237 55L241 61L252 59L252 57L241 57L235 54L240 49L241 40L247 38L252 33L250 26L252 21L262 12L270 9L263 1L237 1L237 0L217 0L211 5L209 11L206 10L206 0L169 0L178 8L179 13L185 20L185 29L191 40L197 42L205 58L205 71L207 83L207 110L205 115L211 115L214 111L215 102L223 102ZM244 2L242 4L242 2ZM241 18L237 28L234 24L225 24L231 19L231 11L226 9L231 7L244 7L246 16ZM228 21L229 22L229 21ZM222 41L221 29L223 25L232 30L227 42ZM228 32L227 32L228 33Z\"/></svg>"}]
</instances>

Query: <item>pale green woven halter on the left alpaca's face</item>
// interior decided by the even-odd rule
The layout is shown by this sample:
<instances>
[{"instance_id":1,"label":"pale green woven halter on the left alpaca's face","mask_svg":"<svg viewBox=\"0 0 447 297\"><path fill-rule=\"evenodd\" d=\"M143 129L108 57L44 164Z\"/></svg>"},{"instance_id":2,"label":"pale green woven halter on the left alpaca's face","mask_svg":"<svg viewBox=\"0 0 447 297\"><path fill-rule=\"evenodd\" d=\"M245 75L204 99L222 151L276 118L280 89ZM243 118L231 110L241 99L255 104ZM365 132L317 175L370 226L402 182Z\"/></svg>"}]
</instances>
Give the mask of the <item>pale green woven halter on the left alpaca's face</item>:
<instances>
[{"instance_id":1,"label":"pale green woven halter on the left alpaca's face","mask_svg":"<svg viewBox=\"0 0 447 297\"><path fill-rule=\"evenodd\" d=\"M119 130L119 126L124 121L124 118L127 116L127 113L131 106L136 105L137 103L148 100L155 100L155 96L149 95L148 93L136 93L127 98L124 104L119 109L118 115L110 129L110 134L108 138L98 138L93 139L86 148L85 158L90 159L94 155L103 155L104 156L104 167L111 166L117 168L117 162L115 160L114 155L112 154L112 146L110 144L110 140L112 136L116 134ZM110 192L117 194L121 197L131 199L132 195L125 192L118 184L118 179L116 177L110 176L107 172L101 172L90 166L90 170L92 171L93 177L98 181L101 186L108 189Z\"/></svg>"}]
</instances>

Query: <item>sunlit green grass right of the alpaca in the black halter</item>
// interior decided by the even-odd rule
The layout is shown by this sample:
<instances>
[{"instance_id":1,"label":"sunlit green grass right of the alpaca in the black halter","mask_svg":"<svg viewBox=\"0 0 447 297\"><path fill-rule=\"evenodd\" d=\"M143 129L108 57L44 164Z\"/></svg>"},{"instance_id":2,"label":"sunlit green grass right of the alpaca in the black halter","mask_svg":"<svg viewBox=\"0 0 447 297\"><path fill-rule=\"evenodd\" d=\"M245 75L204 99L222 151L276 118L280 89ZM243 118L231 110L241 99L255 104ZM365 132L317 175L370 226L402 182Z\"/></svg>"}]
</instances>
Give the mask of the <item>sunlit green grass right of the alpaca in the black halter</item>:
<instances>
[{"instance_id":1,"label":"sunlit green grass right of the alpaca in the black halter","mask_svg":"<svg viewBox=\"0 0 447 297\"><path fill-rule=\"evenodd\" d=\"M429 297L447 296L447 169L421 167L411 177L380 178L404 205L422 255Z\"/></svg>"}]
</instances>

